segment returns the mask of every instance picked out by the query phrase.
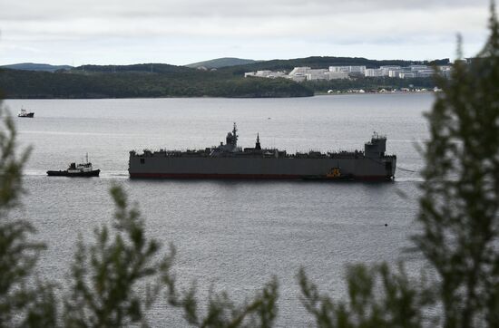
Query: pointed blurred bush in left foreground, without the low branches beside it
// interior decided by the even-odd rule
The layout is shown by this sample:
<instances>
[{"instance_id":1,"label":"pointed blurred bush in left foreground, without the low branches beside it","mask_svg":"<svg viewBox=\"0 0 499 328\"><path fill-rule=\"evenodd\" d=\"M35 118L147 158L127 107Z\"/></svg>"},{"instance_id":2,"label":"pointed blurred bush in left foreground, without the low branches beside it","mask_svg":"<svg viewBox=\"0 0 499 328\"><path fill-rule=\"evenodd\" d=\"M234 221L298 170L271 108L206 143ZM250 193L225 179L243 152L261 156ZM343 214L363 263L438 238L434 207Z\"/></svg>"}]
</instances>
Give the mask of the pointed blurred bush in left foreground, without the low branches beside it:
<instances>
[{"instance_id":1,"label":"pointed blurred bush in left foreground, without the low branches beside it","mask_svg":"<svg viewBox=\"0 0 499 328\"><path fill-rule=\"evenodd\" d=\"M144 311L157 293L142 285L158 275L160 245L144 236L139 211L129 208L121 188L111 189L116 207L114 230L95 229L95 244L78 243L72 266L71 294L64 302L68 327L122 327L144 323ZM165 256L163 262L170 262ZM152 291L146 293L144 291Z\"/></svg>"}]
</instances>

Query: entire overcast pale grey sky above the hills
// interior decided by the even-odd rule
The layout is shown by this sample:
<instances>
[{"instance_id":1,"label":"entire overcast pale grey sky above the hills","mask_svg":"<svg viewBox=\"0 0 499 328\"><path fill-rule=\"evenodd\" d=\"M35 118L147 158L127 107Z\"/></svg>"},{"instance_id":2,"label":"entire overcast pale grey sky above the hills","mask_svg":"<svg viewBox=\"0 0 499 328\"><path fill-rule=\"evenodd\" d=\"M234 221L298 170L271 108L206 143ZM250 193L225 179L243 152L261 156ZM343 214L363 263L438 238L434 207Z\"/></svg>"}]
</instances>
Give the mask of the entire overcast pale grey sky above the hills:
<instances>
[{"instance_id":1,"label":"entire overcast pale grey sky above the hills","mask_svg":"<svg viewBox=\"0 0 499 328\"><path fill-rule=\"evenodd\" d=\"M0 64L312 55L431 60L487 37L488 0L0 0Z\"/></svg>"}]
</instances>

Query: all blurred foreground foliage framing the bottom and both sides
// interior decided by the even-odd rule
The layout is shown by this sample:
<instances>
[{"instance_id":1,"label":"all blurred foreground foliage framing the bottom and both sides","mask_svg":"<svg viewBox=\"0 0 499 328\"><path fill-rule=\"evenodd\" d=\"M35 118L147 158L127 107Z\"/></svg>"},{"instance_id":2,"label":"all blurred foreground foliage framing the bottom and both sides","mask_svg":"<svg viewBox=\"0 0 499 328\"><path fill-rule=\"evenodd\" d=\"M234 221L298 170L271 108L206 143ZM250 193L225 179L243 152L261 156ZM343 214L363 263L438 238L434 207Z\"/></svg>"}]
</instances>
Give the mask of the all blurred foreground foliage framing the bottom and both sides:
<instances>
[{"instance_id":1,"label":"all blurred foreground foliage framing the bottom and both sides","mask_svg":"<svg viewBox=\"0 0 499 328\"><path fill-rule=\"evenodd\" d=\"M423 196L414 236L433 280L411 280L404 265L353 265L348 294L335 300L298 273L302 303L318 327L499 326L499 27L492 6L491 36L473 63L455 63L453 79L427 115L430 140ZM0 130L0 326L116 327L146 325L154 302L183 309L199 327L270 327L277 316L278 283L244 304L211 294L200 311L195 289L180 292L170 269L174 249L144 235L139 211L112 188L114 226L95 229L93 244L79 242L71 284L62 296L32 275L43 245L30 242L34 227L9 217L22 193L28 152L17 155L15 127ZM158 259L159 258L159 259ZM145 281L153 282L145 288ZM61 301L61 298L63 299ZM64 306L63 306L64 304ZM438 309L430 312L429 309Z\"/></svg>"}]
</instances>

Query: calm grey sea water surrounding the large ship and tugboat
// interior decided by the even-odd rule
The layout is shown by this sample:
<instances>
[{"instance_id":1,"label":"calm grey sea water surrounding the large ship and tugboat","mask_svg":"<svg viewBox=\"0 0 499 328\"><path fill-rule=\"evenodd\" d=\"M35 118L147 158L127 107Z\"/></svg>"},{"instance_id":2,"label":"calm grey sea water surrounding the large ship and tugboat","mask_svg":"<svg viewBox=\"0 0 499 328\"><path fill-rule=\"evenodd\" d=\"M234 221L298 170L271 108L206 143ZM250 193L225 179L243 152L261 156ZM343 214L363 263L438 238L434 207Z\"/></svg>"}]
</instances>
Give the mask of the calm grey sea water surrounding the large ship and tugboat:
<instances>
[{"instance_id":1,"label":"calm grey sea water surrounding the large ship and tugboat","mask_svg":"<svg viewBox=\"0 0 499 328\"><path fill-rule=\"evenodd\" d=\"M178 251L179 284L197 281L236 300L279 278L278 326L313 322L299 301L303 266L331 295L345 294L345 265L404 259L410 273L420 257L406 253L417 231L416 144L427 138L423 112L432 94L369 94L301 99L8 100L34 119L16 119L19 140L33 152L24 173L24 207L48 249L41 275L64 285L77 236L111 222L109 188L122 185L137 201L147 229ZM240 145L294 151L363 149L373 131L386 134L397 155L394 183L301 181L130 180L129 150L196 149L218 144L237 122ZM101 178L46 177L88 153ZM386 226L387 225L387 226ZM166 251L166 248L165 248ZM181 326L181 313L152 310L152 326Z\"/></svg>"}]
</instances>

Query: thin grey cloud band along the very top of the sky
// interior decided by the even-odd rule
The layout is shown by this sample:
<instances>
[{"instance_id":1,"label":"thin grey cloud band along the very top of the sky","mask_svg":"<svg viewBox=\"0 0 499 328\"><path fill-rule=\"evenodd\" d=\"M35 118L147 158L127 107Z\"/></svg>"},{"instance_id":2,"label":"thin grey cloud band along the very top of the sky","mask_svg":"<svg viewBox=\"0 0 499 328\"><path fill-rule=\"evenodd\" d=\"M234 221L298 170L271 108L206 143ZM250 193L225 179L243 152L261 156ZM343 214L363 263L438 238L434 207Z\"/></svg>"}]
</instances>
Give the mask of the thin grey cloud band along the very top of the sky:
<instances>
[{"instance_id":1,"label":"thin grey cloud band along the very top of the sky","mask_svg":"<svg viewBox=\"0 0 499 328\"><path fill-rule=\"evenodd\" d=\"M313 16L318 14L367 13L371 11L430 10L438 7L458 8L485 6L488 0L49 0L17 1L0 0L0 19L60 20L84 17L269 17Z\"/></svg>"}]
</instances>

